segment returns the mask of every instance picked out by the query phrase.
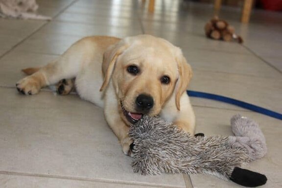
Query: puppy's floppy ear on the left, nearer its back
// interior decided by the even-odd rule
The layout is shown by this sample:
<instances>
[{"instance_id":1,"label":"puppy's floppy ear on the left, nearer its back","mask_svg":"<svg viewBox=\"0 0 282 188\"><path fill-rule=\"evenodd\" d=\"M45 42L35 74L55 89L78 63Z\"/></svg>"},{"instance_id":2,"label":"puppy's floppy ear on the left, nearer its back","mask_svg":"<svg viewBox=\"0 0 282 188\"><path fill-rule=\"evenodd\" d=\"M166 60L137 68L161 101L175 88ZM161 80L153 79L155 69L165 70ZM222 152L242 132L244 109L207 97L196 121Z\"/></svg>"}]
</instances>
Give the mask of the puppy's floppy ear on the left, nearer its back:
<instances>
[{"instance_id":1,"label":"puppy's floppy ear on the left, nearer its back","mask_svg":"<svg viewBox=\"0 0 282 188\"><path fill-rule=\"evenodd\" d=\"M102 67L104 82L100 88L100 92L103 91L109 84L118 56L122 54L123 51L128 48L128 46L129 45L126 44L124 40L121 40L116 45L108 47L104 52Z\"/></svg>"}]
</instances>

